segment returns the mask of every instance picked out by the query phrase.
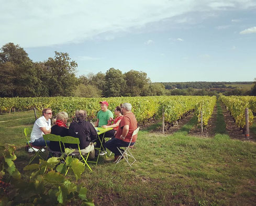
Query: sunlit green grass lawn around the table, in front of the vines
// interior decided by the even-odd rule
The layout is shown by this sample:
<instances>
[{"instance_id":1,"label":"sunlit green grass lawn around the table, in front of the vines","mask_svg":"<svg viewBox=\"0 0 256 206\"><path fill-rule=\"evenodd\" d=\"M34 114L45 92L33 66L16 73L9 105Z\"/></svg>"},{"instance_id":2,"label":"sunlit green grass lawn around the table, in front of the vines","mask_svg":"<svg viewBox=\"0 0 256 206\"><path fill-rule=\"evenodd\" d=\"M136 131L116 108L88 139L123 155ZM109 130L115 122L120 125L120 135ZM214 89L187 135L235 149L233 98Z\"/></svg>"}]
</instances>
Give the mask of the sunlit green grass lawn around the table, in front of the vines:
<instances>
[{"instance_id":1,"label":"sunlit green grass lawn around the table, in front of the vines","mask_svg":"<svg viewBox=\"0 0 256 206\"><path fill-rule=\"evenodd\" d=\"M18 145L15 163L19 168L30 157L23 150L23 128L31 128L34 121L24 119L20 127L15 121L0 123L1 132L5 130L1 142ZM13 124L18 130L8 131ZM93 171L86 169L79 180L87 187L88 197L98 205L254 205L256 144L232 140L226 134L188 136L194 124L195 117L172 135L140 131L132 150L137 162L132 167L125 161L112 164L113 155L99 158L97 166L90 164Z\"/></svg>"}]
</instances>

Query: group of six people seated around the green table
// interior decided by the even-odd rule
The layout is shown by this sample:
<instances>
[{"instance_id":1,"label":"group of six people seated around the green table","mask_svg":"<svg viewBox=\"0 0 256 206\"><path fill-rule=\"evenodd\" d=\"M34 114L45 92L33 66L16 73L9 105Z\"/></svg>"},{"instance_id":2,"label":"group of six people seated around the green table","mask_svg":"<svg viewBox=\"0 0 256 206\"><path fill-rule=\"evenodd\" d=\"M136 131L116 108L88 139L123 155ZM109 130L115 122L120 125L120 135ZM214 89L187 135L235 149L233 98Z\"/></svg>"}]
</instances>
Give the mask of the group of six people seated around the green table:
<instances>
[{"instance_id":1,"label":"group of six people seated around the green table","mask_svg":"<svg viewBox=\"0 0 256 206\"><path fill-rule=\"evenodd\" d=\"M131 105L124 103L120 107L115 108L115 119L113 119L113 113L108 107L107 101L99 102L101 104L101 110L97 113L97 120L95 125L87 119L87 112L85 110L77 110L75 112L75 120L71 122L69 128L67 126L68 114L66 112L59 112L56 118L53 120L53 126L51 127L52 111L50 108L46 108L42 111L42 116L38 118L32 129L30 140L32 145L46 146L49 145L52 151L61 151L59 142L44 141L43 134L55 134L60 136L73 136L80 140L80 150L83 154L90 152L90 158L94 158L97 155L104 155L106 148L115 154L114 163L117 162L120 157L120 152L116 147L128 146L131 140L131 136L134 130L137 129L138 124L135 116L131 112ZM113 128L105 132L105 134L97 135L95 127ZM105 142L104 138L111 138L111 140ZM98 150L95 148L101 147L101 138L103 142L102 152L98 154ZM136 142L137 136L133 137L131 145ZM94 145L96 143L96 145ZM64 145L62 151L64 151ZM74 152L79 152L77 145L65 144L65 147L74 148Z\"/></svg>"}]
</instances>

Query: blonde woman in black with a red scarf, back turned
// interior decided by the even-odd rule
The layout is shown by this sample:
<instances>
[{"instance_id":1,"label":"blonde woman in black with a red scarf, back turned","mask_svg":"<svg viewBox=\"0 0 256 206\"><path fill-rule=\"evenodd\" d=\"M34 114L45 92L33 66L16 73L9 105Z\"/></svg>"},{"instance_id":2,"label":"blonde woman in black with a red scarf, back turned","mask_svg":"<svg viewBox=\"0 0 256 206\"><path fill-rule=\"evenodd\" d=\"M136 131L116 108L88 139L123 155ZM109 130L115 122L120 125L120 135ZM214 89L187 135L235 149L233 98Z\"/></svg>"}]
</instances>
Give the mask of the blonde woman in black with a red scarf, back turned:
<instances>
[{"instance_id":1,"label":"blonde woman in black with a red scarf, back turned","mask_svg":"<svg viewBox=\"0 0 256 206\"><path fill-rule=\"evenodd\" d=\"M69 116L66 112L64 111L59 112L56 116L55 125L53 125L51 128L51 134L68 136L69 130L66 125L66 122L68 121L68 119L69 119ZM58 152L61 151L59 142L50 141L49 147L52 151L58 151ZM62 147L62 151L64 151L63 144L61 144L61 147Z\"/></svg>"}]
</instances>

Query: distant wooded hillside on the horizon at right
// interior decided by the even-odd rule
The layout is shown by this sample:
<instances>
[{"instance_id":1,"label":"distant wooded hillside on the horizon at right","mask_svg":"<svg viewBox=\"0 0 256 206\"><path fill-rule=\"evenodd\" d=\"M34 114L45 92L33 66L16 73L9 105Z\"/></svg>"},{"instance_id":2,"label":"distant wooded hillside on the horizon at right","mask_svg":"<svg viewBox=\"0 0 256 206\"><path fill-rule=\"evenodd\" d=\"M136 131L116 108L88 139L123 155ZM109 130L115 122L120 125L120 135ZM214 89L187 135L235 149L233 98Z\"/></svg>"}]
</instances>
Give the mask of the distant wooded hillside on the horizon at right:
<instances>
[{"instance_id":1,"label":"distant wooded hillside on the horizon at right","mask_svg":"<svg viewBox=\"0 0 256 206\"><path fill-rule=\"evenodd\" d=\"M253 82L161 82L165 89L250 88Z\"/></svg>"}]
</instances>

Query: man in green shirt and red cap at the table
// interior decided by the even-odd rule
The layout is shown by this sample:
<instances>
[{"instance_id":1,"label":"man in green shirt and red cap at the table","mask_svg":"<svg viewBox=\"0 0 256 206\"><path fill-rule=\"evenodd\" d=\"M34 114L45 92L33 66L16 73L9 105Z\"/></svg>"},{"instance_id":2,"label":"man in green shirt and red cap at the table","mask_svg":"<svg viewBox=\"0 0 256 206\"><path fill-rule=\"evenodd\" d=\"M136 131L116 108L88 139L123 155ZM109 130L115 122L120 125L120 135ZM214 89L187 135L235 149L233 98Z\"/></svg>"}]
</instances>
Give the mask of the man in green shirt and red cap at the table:
<instances>
[{"instance_id":1,"label":"man in green shirt and red cap at the table","mask_svg":"<svg viewBox=\"0 0 256 206\"><path fill-rule=\"evenodd\" d=\"M102 127L103 125L107 125L108 122L110 121L109 119L112 118L113 119L113 113L112 111L110 111L107 107L108 107L108 102L107 101L100 101L99 104L101 104L101 110L97 113L97 121L95 122L95 127ZM105 133L105 138L108 138L110 136L108 136L108 132ZM104 151L106 151L106 147L105 147L105 140L103 138L103 134L99 135L99 138L103 139L103 148ZM95 147L100 147L101 145L95 145ZM99 153L99 155L104 155L106 152L101 152Z\"/></svg>"}]
</instances>

